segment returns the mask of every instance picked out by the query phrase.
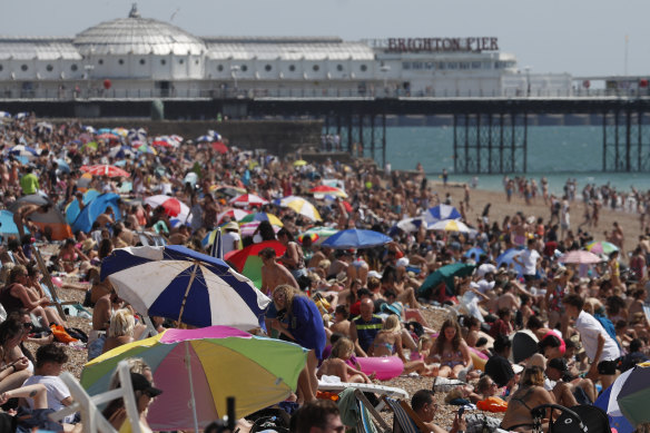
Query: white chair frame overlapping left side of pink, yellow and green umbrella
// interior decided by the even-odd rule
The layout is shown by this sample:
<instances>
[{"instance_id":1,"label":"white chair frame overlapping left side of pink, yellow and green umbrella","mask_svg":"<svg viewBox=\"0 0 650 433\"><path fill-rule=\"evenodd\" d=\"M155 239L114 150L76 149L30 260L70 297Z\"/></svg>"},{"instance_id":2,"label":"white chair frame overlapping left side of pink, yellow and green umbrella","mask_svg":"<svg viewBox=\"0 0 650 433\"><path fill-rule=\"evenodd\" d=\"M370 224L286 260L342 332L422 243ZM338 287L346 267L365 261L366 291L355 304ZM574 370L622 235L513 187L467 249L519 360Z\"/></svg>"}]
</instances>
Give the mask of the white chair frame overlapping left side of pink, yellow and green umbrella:
<instances>
[{"instance_id":1,"label":"white chair frame overlapping left side of pink, yellow and green umbrella","mask_svg":"<svg viewBox=\"0 0 650 433\"><path fill-rule=\"evenodd\" d=\"M141 433L136 395L134 393L128 363L126 361L120 361L117 366L117 372L119 374L121 386L93 396L88 395L86 390L81 387L81 384L70 373L61 373L60 377L66 385L68 385L70 394L72 394L72 397L75 398L75 403L50 414L50 420L60 422L68 415L81 412L83 433L117 433L97 406L115 398L122 397L127 410L127 421L125 422L130 423L132 433Z\"/></svg>"}]
</instances>

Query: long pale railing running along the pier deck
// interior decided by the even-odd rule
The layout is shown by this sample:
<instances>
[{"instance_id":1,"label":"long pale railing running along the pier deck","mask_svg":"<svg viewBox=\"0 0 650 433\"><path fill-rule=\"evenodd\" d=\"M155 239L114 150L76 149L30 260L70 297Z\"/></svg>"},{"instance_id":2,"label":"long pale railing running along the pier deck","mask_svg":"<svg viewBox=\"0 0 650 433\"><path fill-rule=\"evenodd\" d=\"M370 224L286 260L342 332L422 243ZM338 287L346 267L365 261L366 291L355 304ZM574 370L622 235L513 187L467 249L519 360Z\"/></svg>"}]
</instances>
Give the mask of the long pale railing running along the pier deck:
<instances>
[{"instance_id":1,"label":"long pale railing running along the pier deck","mask_svg":"<svg viewBox=\"0 0 650 433\"><path fill-rule=\"evenodd\" d=\"M476 90L423 90L407 91L396 89L342 89L335 87L315 88L215 88L215 89L125 89L125 88L85 88L71 87L66 89L23 89L20 87L0 85L0 100L83 100L83 99L259 99L259 98L640 98L649 97L650 89L531 89L506 88L492 91Z\"/></svg>"}]
</instances>

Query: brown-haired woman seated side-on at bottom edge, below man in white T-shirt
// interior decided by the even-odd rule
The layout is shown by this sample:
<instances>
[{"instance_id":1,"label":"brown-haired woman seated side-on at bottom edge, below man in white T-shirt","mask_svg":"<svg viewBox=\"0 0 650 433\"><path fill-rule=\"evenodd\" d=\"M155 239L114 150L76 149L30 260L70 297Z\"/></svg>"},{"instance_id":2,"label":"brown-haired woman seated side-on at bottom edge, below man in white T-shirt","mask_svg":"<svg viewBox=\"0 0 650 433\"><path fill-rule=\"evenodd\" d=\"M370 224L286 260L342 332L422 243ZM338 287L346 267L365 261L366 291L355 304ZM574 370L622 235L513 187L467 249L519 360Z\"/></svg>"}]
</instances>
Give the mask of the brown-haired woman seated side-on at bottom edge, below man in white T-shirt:
<instances>
[{"instance_id":1,"label":"brown-haired woman seated side-on at bottom edge, below man in white T-shirt","mask_svg":"<svg viewBox=\"0 0 650 433\"><path fill-rule=\"evenodd\" d=\"M540 404L554 404L553 395L544 390L544 372L539 366L524 370L519 390L512 394L501 429L531 432L534 427L531 410Z\"/></svg>"}]
</instances>

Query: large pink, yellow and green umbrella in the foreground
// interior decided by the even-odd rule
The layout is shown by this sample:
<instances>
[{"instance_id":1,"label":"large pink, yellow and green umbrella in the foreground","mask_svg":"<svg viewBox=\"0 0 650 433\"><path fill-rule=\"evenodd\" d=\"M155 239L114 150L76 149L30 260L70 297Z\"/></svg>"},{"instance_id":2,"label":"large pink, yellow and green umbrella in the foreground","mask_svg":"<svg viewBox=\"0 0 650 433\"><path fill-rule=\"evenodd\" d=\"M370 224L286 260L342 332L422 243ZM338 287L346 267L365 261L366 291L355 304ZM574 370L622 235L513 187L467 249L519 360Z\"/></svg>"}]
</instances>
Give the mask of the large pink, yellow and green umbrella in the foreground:
<instances>
[{"instance_id":1,"label":"large pink, yellow and green umbrella in the foreground","mask_svg":"<svg viewBox=\"0 0 650 433\"><path fill-rule=\"evenodd\" d=\"M118 362L130 357L142 358L164 391L149 406L150 427L198 431L226 415L227 397L235 397L236 419L286 400L307 351L228 326L166 329L92 360L81 372L81 385L90 395L108 391Z\"/></svg>"}]
</instances>

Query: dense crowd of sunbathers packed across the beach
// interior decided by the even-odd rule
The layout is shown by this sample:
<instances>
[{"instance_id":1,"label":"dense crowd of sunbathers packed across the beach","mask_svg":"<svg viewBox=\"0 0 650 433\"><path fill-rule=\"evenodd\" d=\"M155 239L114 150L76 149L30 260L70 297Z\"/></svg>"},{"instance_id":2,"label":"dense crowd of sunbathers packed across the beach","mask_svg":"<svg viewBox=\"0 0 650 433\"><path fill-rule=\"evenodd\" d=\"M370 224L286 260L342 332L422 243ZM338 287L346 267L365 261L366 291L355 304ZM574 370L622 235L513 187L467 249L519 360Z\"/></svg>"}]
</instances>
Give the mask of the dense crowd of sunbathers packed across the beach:
<instances>
[{"instance_id":1,"label":"dense crowd of sunbathers packed across the beach","mask_svg":"<svg viewBox=\"0 0 650 433\"><path fill-rule=\"evenodd\" d=\"M470 384L456 390L461 400L508 401L501 425L513 431L532 429L530 407L538 404L593 403L599 390L611 385L621 371L648 358L650 328L643 312L648 238L634 248L630 272L617 252L595 265L563 264L562 254L581 249L591 239L574 236L567 219L554 220L553 215L545 219L516 213L500 224L490 222L487 208L476 223L466 220L472 224L470 233L432 232L426 223L400 228L396 224L404 218L451 204L449 194L441 199L422 174L388 174L362 160L351 166L331 160L294 164L264 152L223 150L210 141L183 139L154 146L154 150L115 151L130 146L129 140L120 134L97 134L78 121L51 130L38 128L33 116L0 126L2 206L10 208L33 194L48 198L45 205L28 204L13 213L19 233L4 236L0 252L0 303L7 313L0 324L2 402L36 384L47 388L47 403L37 403L35 396L28 407L58 410L71 402L65 385L51 378L65 368L66 356L49 332L52 324L63 328L68 324L45 293L33 244L56 246L47 263L50 273L90 282L90 287L69 282L65 287L87 289L92 326L86 347L92 360L147 332L139 313L119 298L110 282L99 279L102 259L114 248L141 245L140 234L147 233L167 244L208 252L210 245L203 239L217 226L224 229L225 252L272 239L286 248L279 257L273 248L259 253L258 288L273 301L266 333L308 350L294 400L305 407L315 405L304 412L319 411L326 422L319 431L342 431L335 410L328 403L314 403L319 381L376 381L372 372L363 371L360 357L397 356L413 381L422 376L461 380ZM145 132L144 140L155 139ZM32 155L23 148L18 148L18 155L14 149L21 145L33 149ZM82 178L81 167L91 165L118 165L128 176ZM347 198L308 193L324 180L343 186ZM506 187L513 188L511 183ZM51 229L32 222L37 213L51 208L65 214L75 201L83 208L83 191L92 188L119 194L119 214L107 207L90 232L79 230L60 240ZM469 207L470 190L465 189L462 204ZM249 207L277 216L283 227L278 230L262 222L253 234L244 234L229 204L237 194L233 190L255 193L268 201L305 197L322 219L273 204ZM188 204L189 215L178 220L162 206L145 204L146 197L157 194ZM372 229L388 234L392 242L334 249L321 245L317 236L304 235L314 226ZM622 227L613 232L612 240L623 252ZM518 253L512 260L498 263L508 250ZM434 286L425 284L432 274L454 264L470 272ZM449 317L436 327L426 318L427 311ZM177 325L162 317L151 319L158 331ZM523 329L539 341L539 350L513 363L510 337ZM24 347L26 341L40 346L36 358ZM489 360L480 366L476 356ZM155 388L148 367L134 362L131 371L138 375L134 384L142 401L138 410L146 414L150 400L165 390ZM432 423L435 395L429 390L415 393L412 407ZM124 402L110 404L107 411L107 419L119 429ZM67 431L79 429L75 424L79 420L66 421ZM145 415L140 421L146 426ZM432 424L431 429L440 427ZM457 416L452 433L464 430L464 420Z\"/></svg>"}]
</instances>

